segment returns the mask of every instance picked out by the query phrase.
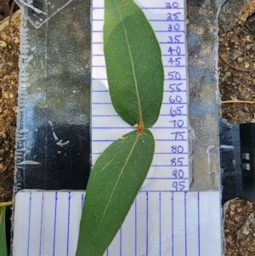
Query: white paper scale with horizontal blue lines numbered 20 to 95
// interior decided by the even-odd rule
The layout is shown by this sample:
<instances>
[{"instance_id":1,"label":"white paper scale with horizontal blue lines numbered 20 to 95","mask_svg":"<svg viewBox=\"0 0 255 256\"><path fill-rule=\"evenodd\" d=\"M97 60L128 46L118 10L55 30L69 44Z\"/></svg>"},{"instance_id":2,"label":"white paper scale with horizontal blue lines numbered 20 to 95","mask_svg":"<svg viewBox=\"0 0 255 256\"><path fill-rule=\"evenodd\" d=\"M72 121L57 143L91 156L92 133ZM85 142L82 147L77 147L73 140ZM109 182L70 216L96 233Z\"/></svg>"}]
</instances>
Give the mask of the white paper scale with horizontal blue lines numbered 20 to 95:
<instances>
[{"instance_id":1,"label":"white paper scale with horizontal blue lines numbered 20 to 95","mask_svg":"<svg viewBox=\"0 0 255 256\"><path fill-rule=\"evenodd\" d=\"M142 191L188 191L189 151L184 1L135 1L161 46L165 71L160 117L150 128L156 152ZM103 51L104 1L93 1L92 164L113 141L134 128L111 105ZM150 53L148 53L150 54Z\"/></svg>"}]
</instances>

